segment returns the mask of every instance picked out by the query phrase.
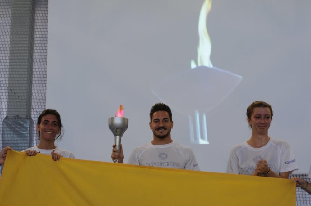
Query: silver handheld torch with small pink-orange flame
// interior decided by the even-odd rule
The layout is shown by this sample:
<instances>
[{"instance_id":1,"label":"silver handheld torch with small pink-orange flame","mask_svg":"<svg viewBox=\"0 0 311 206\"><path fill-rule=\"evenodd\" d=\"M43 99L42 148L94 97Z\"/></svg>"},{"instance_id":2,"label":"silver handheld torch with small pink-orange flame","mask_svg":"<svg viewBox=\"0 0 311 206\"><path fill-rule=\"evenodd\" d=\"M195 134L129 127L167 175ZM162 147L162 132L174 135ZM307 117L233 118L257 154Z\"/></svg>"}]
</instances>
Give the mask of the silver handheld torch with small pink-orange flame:
<instances>
[{"instance_id":1,"label":"silver handheld torch with small pink-orange flame","mask_svg":"<svg viewBox=\"0 0 311 206\"><path fill-rule=\"evenodd\" d=\"M120 105L120 109L118 109L116 116L110 117L108 119L108 126L111 132L114 134L114 144L116 145L117 150L119 150L118 153L120 154L121 137L128 128L128 118L123 117L122 105ZM114 163L119 163L119 160L114 159Z\"/></svg>"}]
</instances>

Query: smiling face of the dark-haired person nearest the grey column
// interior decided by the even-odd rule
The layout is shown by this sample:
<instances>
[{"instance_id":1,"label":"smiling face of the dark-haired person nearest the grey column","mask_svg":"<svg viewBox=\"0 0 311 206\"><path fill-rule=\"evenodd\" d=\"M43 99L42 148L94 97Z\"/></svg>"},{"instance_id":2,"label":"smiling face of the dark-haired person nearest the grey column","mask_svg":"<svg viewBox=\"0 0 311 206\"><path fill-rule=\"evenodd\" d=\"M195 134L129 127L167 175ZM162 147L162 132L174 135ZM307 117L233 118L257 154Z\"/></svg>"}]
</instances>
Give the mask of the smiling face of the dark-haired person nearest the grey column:
<instances>
[{"instance_id":1,"label":"smiling face of the dark-haired person nearest the grey column","mask_svg":"<svg viewBox=\"0 0 311 206\"><path fill-rule=\"evenodd\" d=\"M41 141L55 141L55 136L60 133L57 117L54 114L46 114L37 124L37 131Z\"/></svg>"}]
</instances>

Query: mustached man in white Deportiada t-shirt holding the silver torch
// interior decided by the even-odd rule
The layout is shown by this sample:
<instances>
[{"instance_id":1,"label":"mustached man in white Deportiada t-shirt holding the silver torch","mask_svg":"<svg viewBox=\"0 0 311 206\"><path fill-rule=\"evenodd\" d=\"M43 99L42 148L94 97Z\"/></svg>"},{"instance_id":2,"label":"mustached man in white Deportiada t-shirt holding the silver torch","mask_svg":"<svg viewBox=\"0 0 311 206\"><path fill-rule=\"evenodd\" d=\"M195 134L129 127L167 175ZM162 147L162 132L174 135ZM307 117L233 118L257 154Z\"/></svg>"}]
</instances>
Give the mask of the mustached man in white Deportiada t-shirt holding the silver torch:
<instances>
[{"instance_id":1,"label":"mustached man in white Deportiada t-shirt holding the silver torch","mask_svg":"<svg viewBox=\"0 0 311 206\"><path fill-rule=\"evenodd\" d=\"M173 121L170 108L163 103L156 103L152 106L149 115L153 140L135 148L128 159L128 164L200 170L191 148L171 139ZM120 163L123 163L122 145L120 150L118 154L118 150L113 145L111 158L119 159Z\"/></svg>"}]
</instances>

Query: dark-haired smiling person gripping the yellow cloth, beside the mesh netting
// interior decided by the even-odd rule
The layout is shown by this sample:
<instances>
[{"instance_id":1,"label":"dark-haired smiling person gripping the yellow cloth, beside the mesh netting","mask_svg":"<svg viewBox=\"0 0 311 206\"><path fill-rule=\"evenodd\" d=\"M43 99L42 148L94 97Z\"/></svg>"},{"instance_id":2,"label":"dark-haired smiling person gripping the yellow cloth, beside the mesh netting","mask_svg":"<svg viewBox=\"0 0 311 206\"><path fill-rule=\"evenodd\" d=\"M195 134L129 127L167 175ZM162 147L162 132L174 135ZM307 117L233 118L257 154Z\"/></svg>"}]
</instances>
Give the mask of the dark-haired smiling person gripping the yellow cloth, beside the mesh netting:
<instances>
[{"instance_id":1,"label":"dark-haired smiling person gripping the yellow cloth, beside the mesh netting","mask_svg":"<svg viewBox=\"0 0 311 206\"><path fill-rule=\"evenodd\" d=\"M28 156L35 156L37 153L52 155L54 161L61 157L75 158L72 152L60 149L55 146L55 140L61 138L62 121L56 110L46 109L38 117L37 131L39 132L39 144L30 147L22 152Z\"/></svg>"}]
</instances>

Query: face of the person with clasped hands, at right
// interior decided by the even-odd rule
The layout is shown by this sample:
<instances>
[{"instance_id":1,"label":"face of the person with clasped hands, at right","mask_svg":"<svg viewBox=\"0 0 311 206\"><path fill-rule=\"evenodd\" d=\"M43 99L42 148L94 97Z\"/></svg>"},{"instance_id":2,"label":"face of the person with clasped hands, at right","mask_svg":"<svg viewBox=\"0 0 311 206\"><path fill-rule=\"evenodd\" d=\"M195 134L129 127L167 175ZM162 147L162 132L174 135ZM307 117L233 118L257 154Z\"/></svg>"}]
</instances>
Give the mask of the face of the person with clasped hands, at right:
<instances>
[{"instance_id":1,"label":"face of the person with clasped hands, at right","mask_svg":"<svg viewBox=\"0 0 311 206\"><path fill-rule=\"evenodd\" d=\"M267 135L271 124L271 111L268 107L256 107L247 119L252 128L252 132L260 135Z\"/></svg>"}]
</instances>

